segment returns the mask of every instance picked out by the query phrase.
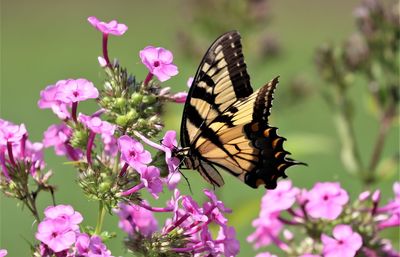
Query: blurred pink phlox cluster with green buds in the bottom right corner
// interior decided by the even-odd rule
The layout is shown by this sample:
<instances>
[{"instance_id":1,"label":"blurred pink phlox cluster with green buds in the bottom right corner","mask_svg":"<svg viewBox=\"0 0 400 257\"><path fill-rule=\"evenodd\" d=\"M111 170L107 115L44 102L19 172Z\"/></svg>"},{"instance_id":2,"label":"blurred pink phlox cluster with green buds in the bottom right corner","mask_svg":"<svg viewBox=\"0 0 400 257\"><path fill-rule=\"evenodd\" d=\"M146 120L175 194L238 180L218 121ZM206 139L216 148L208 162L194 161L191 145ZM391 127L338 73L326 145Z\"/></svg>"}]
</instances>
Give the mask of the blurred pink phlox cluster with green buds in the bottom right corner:
<instances>
[{"instance_id":1,"label":"blurred pink phlox cluster with green buds in the bottom right corner","mask_svg":"<svg viewBox=\"0 0 400 257\"><path fill-rule=\"evenodd\" d=\"M275 244L285 256L398 256L379 237L382 229L400 226L400 183L393 190L395 199L380 206L379 190L365 191L350 203L339 183L319 182L307 191L281 181L276 190L264 195L260 216L253 221L256 231L248 241L255 248ZM306 235L296 238L296 228Z\"/></svg>"}]
</instances>

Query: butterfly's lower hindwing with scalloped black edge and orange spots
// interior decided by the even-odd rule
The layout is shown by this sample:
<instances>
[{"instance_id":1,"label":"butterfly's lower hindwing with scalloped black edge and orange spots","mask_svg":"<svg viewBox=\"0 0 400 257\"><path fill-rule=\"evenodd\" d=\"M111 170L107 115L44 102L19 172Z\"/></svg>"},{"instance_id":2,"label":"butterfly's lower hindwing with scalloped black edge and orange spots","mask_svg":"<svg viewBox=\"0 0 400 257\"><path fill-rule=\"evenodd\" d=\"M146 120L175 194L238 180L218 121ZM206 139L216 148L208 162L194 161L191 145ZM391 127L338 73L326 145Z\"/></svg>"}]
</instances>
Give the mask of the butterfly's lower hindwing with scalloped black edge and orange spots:
<instances>
[{"instance_id":1,"label":"butterfly's lower hindwing with scalloped black edge and orange spots","mask_svg":"<svg viewBox=\"0 0 400 257\"><path fill-rule=\"evenodd\" d=\"M285 169L300 164L286 158L286 140L268 125L273 92L278 78L270 81L249 97L239 100L218 116L209 127L218 138L200 136L195 147L202 158L220 166L247 185L265 185L273 189Z\"/></svg>"}]
</instances>

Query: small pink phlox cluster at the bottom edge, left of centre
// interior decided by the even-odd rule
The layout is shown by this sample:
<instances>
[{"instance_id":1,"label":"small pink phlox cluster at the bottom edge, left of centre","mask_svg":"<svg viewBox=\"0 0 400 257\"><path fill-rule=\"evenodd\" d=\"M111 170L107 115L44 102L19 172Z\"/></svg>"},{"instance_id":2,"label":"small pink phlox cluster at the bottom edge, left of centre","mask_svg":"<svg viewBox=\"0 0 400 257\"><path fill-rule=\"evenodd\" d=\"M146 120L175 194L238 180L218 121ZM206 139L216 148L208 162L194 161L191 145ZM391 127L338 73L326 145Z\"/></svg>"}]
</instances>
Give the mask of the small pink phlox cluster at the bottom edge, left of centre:
<instances>
[{"instance_id":1,"label":"small pink phlox cluster at the bottom edge, left of centre","mask_svg":"<svg viewBox=\"0 0 400 257\"><path fill-rule=\"evenodd\" d=\"M39 223L36 239L41 242L35 256L112 257L101 238L81 233L83 217L69 205L47 207Z\"/></svg>"}]
</instances>

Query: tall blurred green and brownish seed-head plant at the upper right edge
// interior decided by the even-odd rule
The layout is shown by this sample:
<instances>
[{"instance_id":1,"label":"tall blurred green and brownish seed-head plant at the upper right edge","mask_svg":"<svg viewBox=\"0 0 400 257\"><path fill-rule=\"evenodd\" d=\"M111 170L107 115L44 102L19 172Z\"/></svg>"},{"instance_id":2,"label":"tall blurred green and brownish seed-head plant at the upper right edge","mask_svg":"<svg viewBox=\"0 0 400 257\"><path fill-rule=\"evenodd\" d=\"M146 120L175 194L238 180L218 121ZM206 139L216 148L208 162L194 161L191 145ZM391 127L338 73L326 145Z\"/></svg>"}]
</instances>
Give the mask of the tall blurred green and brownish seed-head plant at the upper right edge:
<instances>
[{"instance_id":1,"label":"tall blurred green and brownish seed-head plant at the upper right edge","mask_svg":"<svg viewBox=\"0 0 400 257\"><path fill-rule=\"evenodd\" d=\"M380 0L363 0L355 9L354 16L358 31L342 46L321 46L316 52L315 63L322 79L330 84L325 89L325 97L335 112L342 143L342 162L348 172L358 175L368 186L398 168L398 149L391 153L389 160L381 159L386 135L398 120L399 2L385 6ZM355 84L355 77L362 77L365 81L367 86L363 93L371 99L379 123L376 141L371 143L372 154L368 164L362 161L354 128L355 98L359 96L350 96L349 91ZM380 162L386 164L385 168L378 166Z\"/></svg>"}]
</instances>

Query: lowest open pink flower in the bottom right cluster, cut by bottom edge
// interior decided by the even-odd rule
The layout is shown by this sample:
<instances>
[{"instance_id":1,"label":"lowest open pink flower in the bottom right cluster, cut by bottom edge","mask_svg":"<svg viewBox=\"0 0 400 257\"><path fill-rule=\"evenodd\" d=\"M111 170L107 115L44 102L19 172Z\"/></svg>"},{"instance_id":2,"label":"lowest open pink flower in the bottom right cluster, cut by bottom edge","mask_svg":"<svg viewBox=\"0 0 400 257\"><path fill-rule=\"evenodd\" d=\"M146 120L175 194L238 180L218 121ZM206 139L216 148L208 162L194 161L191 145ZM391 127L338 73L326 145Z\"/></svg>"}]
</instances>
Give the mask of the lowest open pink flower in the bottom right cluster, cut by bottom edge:
<instances>
[{"instance_id":1,"label":"lowest open pink flower in the bottom right cluster, cut by bottom edge","mask_svg":"<svg viewBox=\"0 0 400 257\"><path fill-rule=\"evenodd\" d=\"M321 235L325 257L354 257L362 246L361 236L348 225L337 225L332 234L334 238Z\"/></svg>"}]
</instances>

